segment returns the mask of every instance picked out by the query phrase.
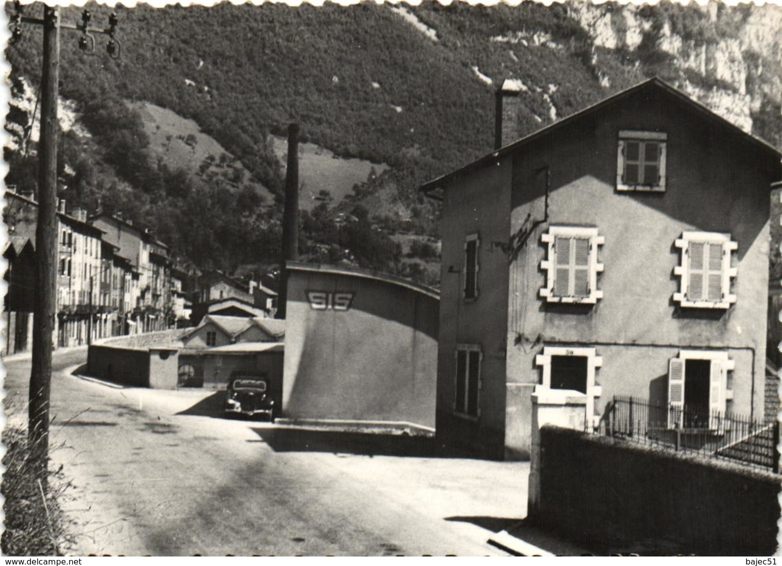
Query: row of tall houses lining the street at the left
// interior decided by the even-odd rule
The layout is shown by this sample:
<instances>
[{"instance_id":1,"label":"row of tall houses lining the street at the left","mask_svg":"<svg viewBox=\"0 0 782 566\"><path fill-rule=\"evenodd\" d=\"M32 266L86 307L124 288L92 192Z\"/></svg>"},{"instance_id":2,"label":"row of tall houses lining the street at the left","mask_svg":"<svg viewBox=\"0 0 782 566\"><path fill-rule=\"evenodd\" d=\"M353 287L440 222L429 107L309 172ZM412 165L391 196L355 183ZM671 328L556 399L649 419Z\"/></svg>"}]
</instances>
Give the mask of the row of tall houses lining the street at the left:
<instances>
[{"instance_id":1,"label":"row of tall houses lining the street at the left","mask_svg":"<svg viewBox=\"0 0 782 566\"><path fill-rule=\"evenodd\" d=\"M7 338L5 354L32 344L36 283L34 195L5 192L3 220L9 240L3 256ZM236 297L258 304L273 316L276 292L221 271L200 273L178 266L169 247L131 220L101 214L88 218L82 208L59 200L57 213L57 317L52 341L80 346L95 339L161 331L197 323L215 300ZM192 317L193 310L199 311Z\"/></svg>"}]
</instances>

